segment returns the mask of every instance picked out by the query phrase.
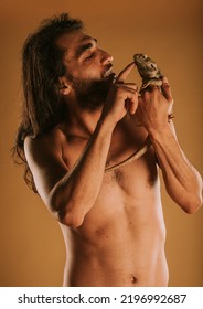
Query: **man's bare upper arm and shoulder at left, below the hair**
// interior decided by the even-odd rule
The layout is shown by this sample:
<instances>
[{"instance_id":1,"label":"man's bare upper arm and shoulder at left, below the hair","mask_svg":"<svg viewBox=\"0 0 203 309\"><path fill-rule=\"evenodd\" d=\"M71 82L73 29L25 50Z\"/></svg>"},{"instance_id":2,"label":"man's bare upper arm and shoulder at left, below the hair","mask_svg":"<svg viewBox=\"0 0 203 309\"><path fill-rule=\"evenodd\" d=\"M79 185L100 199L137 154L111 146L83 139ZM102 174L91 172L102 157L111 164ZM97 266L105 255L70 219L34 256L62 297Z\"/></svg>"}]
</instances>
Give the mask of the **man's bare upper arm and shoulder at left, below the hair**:
<instances>
[{"instance_id":1,"label":"man's bare upper arm and shoulder at left, below the hair","mask_svg":"<svg viewBox=\"0 0 203 309\"><path fill-rule=\"evenodd\" d=\"M24 152L38 193L47 205L52 188L68 172L60 143L46 137L26 137Z\"/></svg>"}]
</instances>

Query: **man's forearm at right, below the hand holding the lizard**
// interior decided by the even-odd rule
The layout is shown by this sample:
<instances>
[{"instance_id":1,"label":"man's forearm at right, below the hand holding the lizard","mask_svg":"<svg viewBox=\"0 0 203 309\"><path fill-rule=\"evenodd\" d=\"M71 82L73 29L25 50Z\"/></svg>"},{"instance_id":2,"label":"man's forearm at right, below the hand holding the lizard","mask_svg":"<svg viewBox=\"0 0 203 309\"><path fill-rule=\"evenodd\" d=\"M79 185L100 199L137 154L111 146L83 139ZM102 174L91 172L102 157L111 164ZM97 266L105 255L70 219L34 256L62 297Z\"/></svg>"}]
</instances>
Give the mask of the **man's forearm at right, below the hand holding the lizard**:
<instances>
[{"instance_id":1,"label":"man's forearm at right, below the hand holding the lizard","mask_svg":"<svg viewBox=\"0 0 203 309\"><path fill-rule=\"evenodd\" d=\"M185 212L194 212L202 203L202 179L181 150L173 126L150 136L169 195Z\"/></svg>"}]
</instances>

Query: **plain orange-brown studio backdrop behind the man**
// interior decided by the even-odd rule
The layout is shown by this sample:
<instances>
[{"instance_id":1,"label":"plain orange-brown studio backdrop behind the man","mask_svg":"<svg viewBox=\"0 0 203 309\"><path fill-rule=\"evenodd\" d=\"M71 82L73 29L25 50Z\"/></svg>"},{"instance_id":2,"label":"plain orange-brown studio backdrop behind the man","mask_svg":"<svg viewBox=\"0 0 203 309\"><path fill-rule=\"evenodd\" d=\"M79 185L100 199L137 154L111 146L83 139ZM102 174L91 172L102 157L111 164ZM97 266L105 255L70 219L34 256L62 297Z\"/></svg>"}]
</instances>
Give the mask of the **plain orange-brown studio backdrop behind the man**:
<instances>
[{"instance_id":1,"label":"plain orange-brown studio backdrop behind the man","mask_svg":"<svg viewBox=\"0 0 203 309\"><path fill-rule=\"evenodd\" d=\"M85 21L114 55L116 72L145 52L168 76L179 141L203 173L202 0L54 1L0 3L0 286L61 286L65 260L57 222L22 180L10 149L21 103L20 51L39 22L62 11ZM130 78L140 83L137 73ZM203 286L203 209L186 215L162 188L170 286ZM130 258L130 257L129 257Z\"/></svg>"}]
</instances>

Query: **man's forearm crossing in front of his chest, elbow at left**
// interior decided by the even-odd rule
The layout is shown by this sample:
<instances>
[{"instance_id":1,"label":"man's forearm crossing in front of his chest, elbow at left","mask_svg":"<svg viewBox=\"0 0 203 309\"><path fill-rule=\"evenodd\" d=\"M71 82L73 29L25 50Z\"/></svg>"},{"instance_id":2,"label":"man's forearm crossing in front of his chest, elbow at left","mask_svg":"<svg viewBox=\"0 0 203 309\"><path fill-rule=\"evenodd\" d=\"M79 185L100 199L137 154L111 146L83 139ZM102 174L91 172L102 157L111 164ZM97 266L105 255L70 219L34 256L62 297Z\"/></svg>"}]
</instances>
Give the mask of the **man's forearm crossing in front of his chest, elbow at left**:
<instances>
[{"instance_id":1,"label":"man's forearm crossing in front of his chest, elbow at left","mask_svg":"<svg viewBox=\"0 0 203 309\"><path fill-rule=\"evenodd\" d=\"M103 182L113 130L114 124L100 118L79 160L52 189L51 207L62 223L81 225L94 205Z\"/></svg>"}]
</instances>

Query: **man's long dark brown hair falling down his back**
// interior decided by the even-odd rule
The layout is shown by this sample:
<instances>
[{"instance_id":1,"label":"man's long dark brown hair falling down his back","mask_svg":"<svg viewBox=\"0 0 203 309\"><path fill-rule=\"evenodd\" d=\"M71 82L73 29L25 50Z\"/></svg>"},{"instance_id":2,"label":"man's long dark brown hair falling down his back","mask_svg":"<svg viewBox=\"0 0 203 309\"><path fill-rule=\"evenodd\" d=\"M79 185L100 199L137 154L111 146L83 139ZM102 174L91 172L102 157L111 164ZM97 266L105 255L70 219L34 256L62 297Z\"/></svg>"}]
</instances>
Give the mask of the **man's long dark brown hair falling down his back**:
<instances>
[{"instance_id":1,"label":"man's long dark brown hair falling down his back","mask_svg":"<svg viewBox=\"0 0 203 309\"><path fill-rule=\"evenodd\" d=\"M56 40L73 30L82 30L83 22L62 13L44 20L36 32L29 35L22 49L22 115L18 129L13 158L24 163L24 180L34 191L32 173L24 156L24 139L49 132L63 120L63 99L58 77L66 73L64 50Z\"/></svg>"}]
</instances>

